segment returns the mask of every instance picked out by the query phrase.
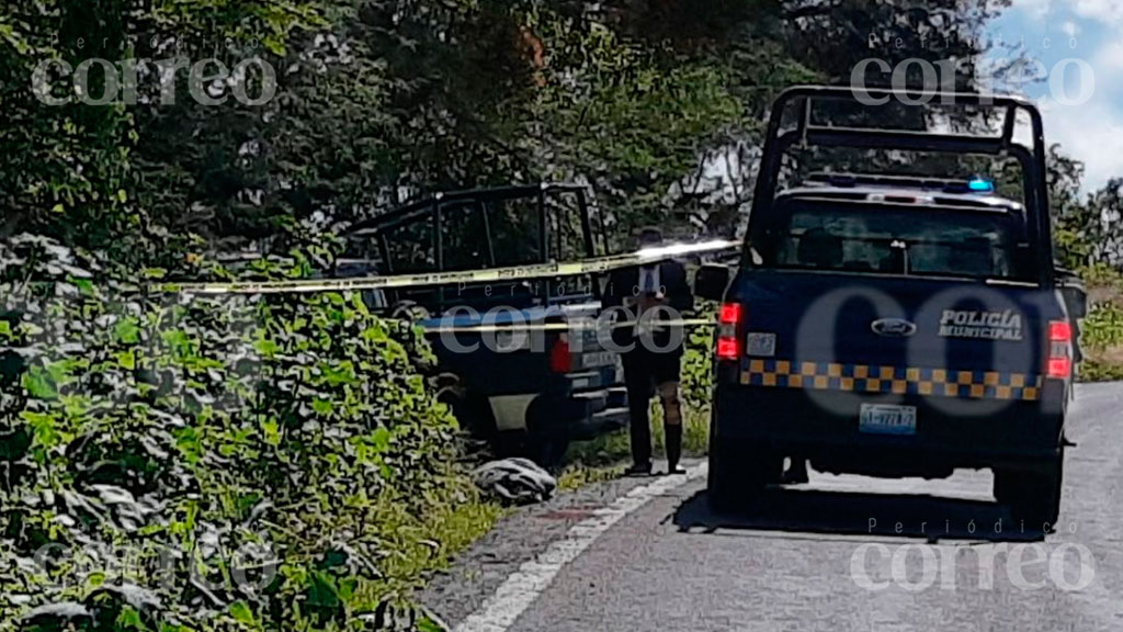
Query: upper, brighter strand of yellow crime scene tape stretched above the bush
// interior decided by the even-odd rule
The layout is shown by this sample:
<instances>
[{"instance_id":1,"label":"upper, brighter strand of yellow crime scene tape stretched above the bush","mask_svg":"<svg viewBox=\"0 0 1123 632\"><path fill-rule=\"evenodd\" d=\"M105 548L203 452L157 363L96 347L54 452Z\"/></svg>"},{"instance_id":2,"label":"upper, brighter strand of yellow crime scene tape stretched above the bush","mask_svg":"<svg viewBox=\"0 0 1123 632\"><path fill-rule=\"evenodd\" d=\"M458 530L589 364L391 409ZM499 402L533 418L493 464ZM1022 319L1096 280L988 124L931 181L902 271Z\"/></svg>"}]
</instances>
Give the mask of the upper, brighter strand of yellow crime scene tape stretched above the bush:
<instances>
[{"instance_id":1,"label":"upper, brighter strand of yellow crime scene tape stretched above the bush","mask_svg":"<svg viewBox=\"0 0 1123 632\"><path fill-rule=\"evenodd\" d=\"M389 274L377 277L355 277L349 279L300 279L294 281L234 281L214 283L161 283L154 286L158 292L198 295L256 295L256 294L314 294L325 291L362 291L395 288L421 288L456 283L486 283L520 279L574 277L611 272L621 268L643 265L676 256L687 256L728 251L738 247L737 242L713 240L696 244L670 244L643 249L628 254L587 259L584 261L535 263L491 268L487 270L465 270L460 272L426 272L413 274Z\"/></svg>"}]
</instances>

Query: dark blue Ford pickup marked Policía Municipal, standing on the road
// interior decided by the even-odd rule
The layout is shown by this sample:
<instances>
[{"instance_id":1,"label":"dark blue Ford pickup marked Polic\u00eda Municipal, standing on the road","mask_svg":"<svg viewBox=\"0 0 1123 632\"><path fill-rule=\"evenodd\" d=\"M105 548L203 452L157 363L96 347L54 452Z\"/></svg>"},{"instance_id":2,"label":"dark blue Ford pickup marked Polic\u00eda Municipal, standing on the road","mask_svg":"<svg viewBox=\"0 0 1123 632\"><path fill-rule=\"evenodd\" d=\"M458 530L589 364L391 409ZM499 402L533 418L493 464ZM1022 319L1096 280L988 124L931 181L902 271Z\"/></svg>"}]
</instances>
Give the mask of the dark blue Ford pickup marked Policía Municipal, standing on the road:
<instances>
[{"instance_id":1,"label":"dark blue Ford pickup marked Polic\u00eda Municipal, standing on the road","mask_svg":"<svg viewBox=\"0 0 1123 632\"><path fill-rule=\"evenodd\" d=\"M695 279L721 301L718 507L778 482L791 458L882 477L990 468L1015 518L1044 531L1056 522L1085 297L1053 263L1041 116L1014 98L942 97L1010 118L993 136L925 134L856 127L871 118L852 114L848 89L777 100L740 265ZM850 112L849 125L823 123L821 106ZM1032 146L1014 142L1016 116ZM796 145L1012 156L1022 200L970 175L816 173L777 191L780 156Z\"/></svg>"}]
</instances>

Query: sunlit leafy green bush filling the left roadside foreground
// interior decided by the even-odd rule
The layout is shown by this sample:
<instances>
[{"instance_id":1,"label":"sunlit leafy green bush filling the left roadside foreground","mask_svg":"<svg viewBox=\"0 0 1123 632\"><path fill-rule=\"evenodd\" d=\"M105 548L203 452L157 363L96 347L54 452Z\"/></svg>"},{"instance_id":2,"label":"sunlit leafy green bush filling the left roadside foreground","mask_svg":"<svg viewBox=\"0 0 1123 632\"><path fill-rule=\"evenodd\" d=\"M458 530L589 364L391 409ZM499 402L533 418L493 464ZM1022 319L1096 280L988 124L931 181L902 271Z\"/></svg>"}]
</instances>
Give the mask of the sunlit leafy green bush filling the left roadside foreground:
<instances>
[{"instance_id":1,"label":"sunlit leafy green bush filling the left roadside foreground","mask_svg":"<svg viewBox=\"0 0 1123 632\"><path fill-rule=\"evenodd\" d=\"M357 296L107 277L0 245L0 630L420 625L410 592L497 514L420 334Z\"/></svg>"}]
</instances>

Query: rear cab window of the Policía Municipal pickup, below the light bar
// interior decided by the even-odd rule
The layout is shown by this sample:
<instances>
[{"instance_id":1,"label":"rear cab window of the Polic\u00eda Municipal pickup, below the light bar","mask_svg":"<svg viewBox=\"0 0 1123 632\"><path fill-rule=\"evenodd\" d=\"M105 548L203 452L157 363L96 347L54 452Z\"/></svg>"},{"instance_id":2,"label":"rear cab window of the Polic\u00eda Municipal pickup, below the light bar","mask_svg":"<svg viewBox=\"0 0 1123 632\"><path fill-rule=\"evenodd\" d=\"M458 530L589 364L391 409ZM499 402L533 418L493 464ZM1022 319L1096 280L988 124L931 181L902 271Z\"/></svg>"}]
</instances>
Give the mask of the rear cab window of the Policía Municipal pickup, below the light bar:
<instances>
[{"instance_id":1,"label":"rear cab window of the Polic\u00eda Municipal pickup, below the light bar","mask_svg":"<svg viewBox=\"0 0 1123 632\"><path fill-rule=\"evenodd\" d=\"M769 231L764 265L785 269L1032 281L1024 223L1013 213L802 202Z\"/></svg>"}]
</instances>

